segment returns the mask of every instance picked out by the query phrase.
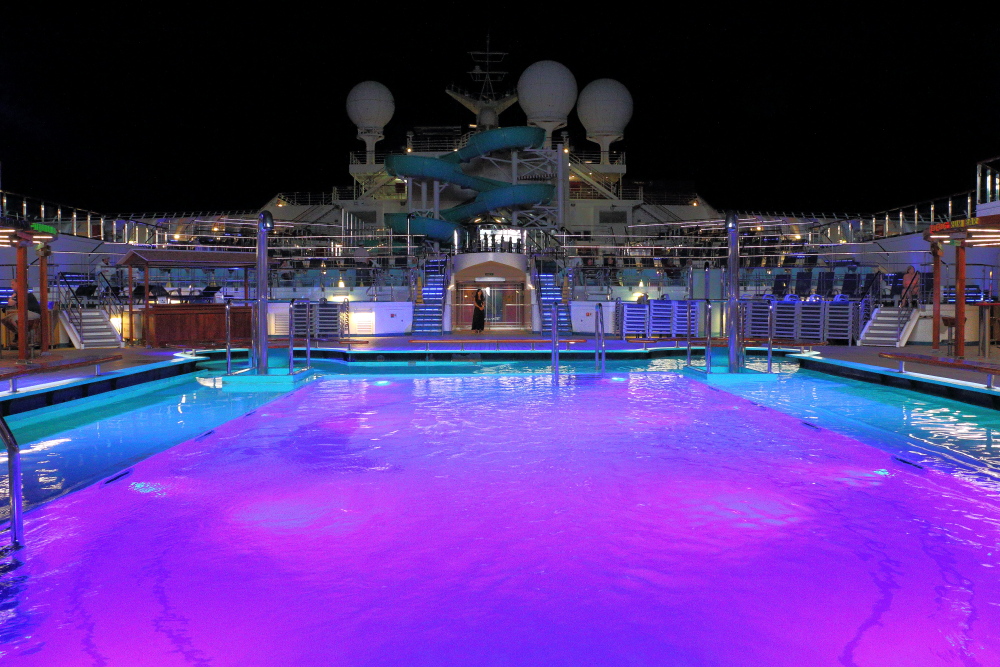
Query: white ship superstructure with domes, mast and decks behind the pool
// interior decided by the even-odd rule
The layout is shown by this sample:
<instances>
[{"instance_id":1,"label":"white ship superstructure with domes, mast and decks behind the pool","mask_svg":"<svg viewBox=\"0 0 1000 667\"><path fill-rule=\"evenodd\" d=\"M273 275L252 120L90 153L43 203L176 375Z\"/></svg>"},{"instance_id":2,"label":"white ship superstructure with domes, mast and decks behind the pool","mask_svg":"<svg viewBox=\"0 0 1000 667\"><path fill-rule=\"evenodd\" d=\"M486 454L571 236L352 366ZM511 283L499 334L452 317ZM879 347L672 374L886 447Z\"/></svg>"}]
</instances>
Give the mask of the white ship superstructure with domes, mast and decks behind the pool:
<instances>
[{"instance_id":1,"label":"white ship superstructure with domes, mast and decks behind the pool","mask_svg":"<svg viewBox=\"0 0 1000 667\"><path fill-rule=\"evenodd\" d=\"M364 143L349 156L353 182L322 193L280 193L260 209L276 224L272 298L346 301L353 320L366 322L356 332L388 334L461 330L480 287L490 294L489 325L522 331L546 331L555 321L567 332L586 332L596 302L721 294L722 212L695 192L629 180L626 154L614 150L632 114L625 86L598 79L578 89L569 68L545 60L507 89L507 54L487 46L470 55L476 90L453 86L445 93L475 122L413 127L403 145L384 145L397 105L388 87L364 81L349 92L347 113ZM525 126L502 122L514 104L525 112ZM574 110L592 149L567 129ZM804 305L783 308L797 338L829 338L826 323L846 317L837 339L861 340L875 302L892 295L906 267L929 272L926 232L991 214L1000 201L997 167L995 160L980 165L975 191L875 214L741 212L744 295L853 303L836 317L832 306L811 306L818 313L811 315ZM11 193L0 203L7 214L58 229L58 243L72 250L57 248L53 264L84 283L113 272L116 259L136 245L251 251L259 213L109 216ZM996 294L996 248L971 252L978 294ZM146 278L166 298L208 290L221 299L241 287L234 271L178 269ZM665 308L662 321L670 319ZM624 331L628 308L619 310L616 326ZM653 309L643 312L635 332L655 333Z\"/></svg>"}]
</instances>

